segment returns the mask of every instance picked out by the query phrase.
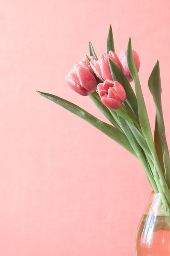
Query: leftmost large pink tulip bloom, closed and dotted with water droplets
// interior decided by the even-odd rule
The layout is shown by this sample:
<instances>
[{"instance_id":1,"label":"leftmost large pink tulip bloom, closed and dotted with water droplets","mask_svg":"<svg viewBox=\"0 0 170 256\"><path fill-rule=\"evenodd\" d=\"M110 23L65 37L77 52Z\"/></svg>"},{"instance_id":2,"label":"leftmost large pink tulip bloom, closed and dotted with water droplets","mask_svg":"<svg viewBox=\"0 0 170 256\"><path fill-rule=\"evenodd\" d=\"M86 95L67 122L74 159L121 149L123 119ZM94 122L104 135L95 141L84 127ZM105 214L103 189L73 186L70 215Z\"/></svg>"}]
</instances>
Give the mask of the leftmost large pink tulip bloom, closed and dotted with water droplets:
<instances>
[{"instance_id":1,"label":"leftmost large pink tulip bloom, closed and dotted with water droplets","mask_svg":"<svg viewBox=\"0 0 170 256\"><path fill-rule=\"evenodd\" d=\"M97 88L96 79L89 68L79 64L74 65L74 69L65 76L65 81L71 89L82 96L93 93Z\"/></svg>"}]
</instances>

